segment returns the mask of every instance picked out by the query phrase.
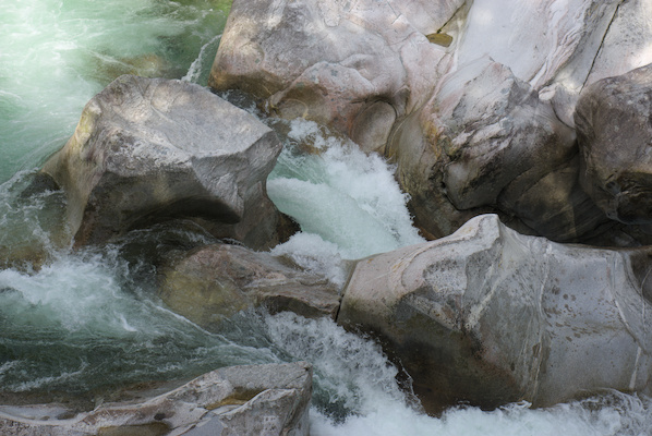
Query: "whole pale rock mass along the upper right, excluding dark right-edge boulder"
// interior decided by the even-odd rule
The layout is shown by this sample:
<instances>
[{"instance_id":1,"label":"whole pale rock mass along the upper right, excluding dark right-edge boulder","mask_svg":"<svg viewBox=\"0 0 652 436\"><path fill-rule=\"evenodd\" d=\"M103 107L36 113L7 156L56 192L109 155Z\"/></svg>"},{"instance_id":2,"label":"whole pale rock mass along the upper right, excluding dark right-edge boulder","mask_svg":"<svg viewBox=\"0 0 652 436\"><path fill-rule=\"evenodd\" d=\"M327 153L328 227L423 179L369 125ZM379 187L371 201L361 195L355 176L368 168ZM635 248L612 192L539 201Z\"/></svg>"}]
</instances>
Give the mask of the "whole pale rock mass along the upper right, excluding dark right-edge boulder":
<instances>
[{"instance_id":1,"label":"whole pale rock mass along the upper right, excluding dark right-edge boulder","mask_svg":"<svg viewBox=\"0 0 652 436\"><path fill-rule=\"evenodd\" d=\"M209 85L396 159L430 238L491 211L521 232L611 244L619 230L605 233L615 223L578 181L573 112L587 85L652 62L650 8L237 0Z\"/></svg>"}]
</instances>

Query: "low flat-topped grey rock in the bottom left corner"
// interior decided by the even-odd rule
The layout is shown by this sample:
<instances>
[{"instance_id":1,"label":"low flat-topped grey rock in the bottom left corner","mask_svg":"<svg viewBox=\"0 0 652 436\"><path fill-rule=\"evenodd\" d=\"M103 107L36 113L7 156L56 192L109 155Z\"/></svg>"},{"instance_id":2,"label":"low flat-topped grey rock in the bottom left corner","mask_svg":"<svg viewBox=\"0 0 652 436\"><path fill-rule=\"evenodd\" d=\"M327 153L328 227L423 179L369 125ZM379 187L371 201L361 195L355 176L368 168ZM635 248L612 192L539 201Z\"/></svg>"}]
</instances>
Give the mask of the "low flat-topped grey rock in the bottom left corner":
<instances>
[{"instance_id":1,"label":"low flat-topped grey rock in the bottom left corner","mask_svg":"<svg viewBox=\"0 0 652 436\"><path fill-rule=\"evenodd\" d=\"M312 367L231 366L140 403L106 403L68 417L57 405L0 407L0 432L23 436L307 436ZM65 416L53 419L51 416Z\"/></svg>"}]
</instances>

